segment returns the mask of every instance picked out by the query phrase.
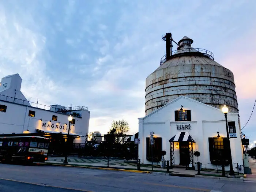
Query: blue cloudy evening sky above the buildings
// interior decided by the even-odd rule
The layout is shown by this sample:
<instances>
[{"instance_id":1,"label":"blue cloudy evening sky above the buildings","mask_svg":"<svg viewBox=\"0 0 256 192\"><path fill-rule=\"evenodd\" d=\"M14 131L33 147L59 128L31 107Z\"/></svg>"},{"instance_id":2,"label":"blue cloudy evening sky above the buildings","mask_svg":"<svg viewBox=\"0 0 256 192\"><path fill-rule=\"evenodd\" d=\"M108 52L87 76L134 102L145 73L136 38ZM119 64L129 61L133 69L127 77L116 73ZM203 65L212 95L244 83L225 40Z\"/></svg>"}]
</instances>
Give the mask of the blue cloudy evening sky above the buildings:
<instances>
[{"instance_id":1,"label":"blue cloudy evening sky above the buildings","mask_svg":"<svg viewBox=\"0 0 256 192\"><path fill-rule=\"evenodd\" d=\"M89 131L112 120L138 132L145 80L185 35L234 73L241 127L256 99L255 0L0 0L0 78L19 73L30 101L90 110ZM243 129L256 140L256 112Z\"/></svg>"}]
</instances>

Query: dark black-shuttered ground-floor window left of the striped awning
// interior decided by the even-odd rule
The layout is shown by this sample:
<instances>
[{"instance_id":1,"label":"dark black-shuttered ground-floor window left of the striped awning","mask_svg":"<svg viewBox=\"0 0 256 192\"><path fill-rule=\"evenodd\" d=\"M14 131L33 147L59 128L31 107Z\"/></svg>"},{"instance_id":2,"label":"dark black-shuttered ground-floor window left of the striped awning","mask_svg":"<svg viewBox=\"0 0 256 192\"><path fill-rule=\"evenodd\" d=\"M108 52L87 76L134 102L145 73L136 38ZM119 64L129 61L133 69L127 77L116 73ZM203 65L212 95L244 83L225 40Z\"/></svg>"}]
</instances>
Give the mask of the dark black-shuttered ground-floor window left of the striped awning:
<instances>
[{"instance_id":1,"label":"dark black-shuttered ground-floor window left of the striped awning","mask_svg":"<svg viewBox=\"0 0 256 192\"><path fill-rule=\"evenodd\" d=\"M147 147L147 161L151 161L151 145L150 138L146 138L146 147ZM158 162L161 161L161 151L162 151L162 138L154 138L154 145L152 147L153 150L153 161Z\"/></svg>"}]
</instances>

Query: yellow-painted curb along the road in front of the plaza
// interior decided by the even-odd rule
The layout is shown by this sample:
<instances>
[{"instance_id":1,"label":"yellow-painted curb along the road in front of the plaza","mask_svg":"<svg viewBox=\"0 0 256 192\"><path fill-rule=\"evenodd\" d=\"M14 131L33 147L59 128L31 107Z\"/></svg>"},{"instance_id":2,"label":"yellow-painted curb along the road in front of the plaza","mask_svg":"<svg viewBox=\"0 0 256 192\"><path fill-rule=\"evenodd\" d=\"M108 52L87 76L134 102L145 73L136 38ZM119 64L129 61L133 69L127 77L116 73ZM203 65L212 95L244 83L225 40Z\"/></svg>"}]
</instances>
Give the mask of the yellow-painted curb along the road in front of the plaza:
<instances>
[{"instance_id":1,"label":"yellow-painted curb along the road in front of the plaza","mask_svg":"<svg viewBox=\"0 0 256 192\"><path fill-rule=\"evenodd\" d=\"M123 171L123 172L132 172L132 173L148 173L149 171L139 171L139 170L129 170L129 169L118 169L118 168L104 168L104 167L87 167L87 166L79 166L79 165L61 165L61 164L52 164L52 163L38 163L40 165L50 165L50 166L59 166L59 167L78 167L84 169L100 169L100 170L111 170L111 171Z\"/></svg>"}]
</instances>

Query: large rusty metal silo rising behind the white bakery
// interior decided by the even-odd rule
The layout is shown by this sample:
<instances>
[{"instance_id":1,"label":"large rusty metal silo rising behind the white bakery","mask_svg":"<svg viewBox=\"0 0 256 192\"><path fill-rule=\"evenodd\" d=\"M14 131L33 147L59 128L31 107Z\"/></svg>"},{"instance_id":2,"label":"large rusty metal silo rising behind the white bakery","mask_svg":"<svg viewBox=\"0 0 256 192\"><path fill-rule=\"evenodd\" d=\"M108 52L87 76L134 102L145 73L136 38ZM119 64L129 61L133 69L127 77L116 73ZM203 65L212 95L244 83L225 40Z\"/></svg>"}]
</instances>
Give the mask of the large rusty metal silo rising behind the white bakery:
<instances>
[{"instance_id":1,"label":"large rusty metal silo rising behind the white bakery","mask_svg":"<svg viewBox=\"0 0 256 192\"><path fill-rule=\"evenodd\" d=\"M192 48L193 40L183 37L178 43L172 34L164 35L166 55L160 66L146 79L146 110L150 114L173 99L183 95L230 112L238 113L233 73L214 61L214 55L200 48ZM172 51L172 42L178 45Z\"/></svg>"}]
</instances>

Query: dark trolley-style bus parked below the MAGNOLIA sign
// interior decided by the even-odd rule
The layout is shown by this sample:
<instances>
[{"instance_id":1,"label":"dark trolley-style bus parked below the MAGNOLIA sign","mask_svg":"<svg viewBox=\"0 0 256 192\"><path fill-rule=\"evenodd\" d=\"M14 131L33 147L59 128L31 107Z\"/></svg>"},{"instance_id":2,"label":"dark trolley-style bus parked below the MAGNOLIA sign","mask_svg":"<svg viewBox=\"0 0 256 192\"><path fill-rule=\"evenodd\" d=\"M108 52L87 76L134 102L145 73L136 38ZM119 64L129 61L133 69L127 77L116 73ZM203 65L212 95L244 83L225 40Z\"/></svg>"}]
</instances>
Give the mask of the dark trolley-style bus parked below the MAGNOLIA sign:
<instances>
[{"instance_id":1,"label":"dark trolley-style bus parked below the MAGNOLIA sign","mask_svg":"<svg viewBox=\"0 0 256 192\"><path fill-rule=\"evenodd\" d=\"M1 162L44 162L50 139L31 134L0 135Z\"/></svg>"}]
</instances>

